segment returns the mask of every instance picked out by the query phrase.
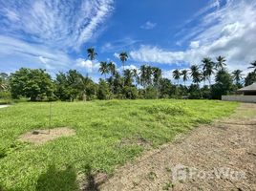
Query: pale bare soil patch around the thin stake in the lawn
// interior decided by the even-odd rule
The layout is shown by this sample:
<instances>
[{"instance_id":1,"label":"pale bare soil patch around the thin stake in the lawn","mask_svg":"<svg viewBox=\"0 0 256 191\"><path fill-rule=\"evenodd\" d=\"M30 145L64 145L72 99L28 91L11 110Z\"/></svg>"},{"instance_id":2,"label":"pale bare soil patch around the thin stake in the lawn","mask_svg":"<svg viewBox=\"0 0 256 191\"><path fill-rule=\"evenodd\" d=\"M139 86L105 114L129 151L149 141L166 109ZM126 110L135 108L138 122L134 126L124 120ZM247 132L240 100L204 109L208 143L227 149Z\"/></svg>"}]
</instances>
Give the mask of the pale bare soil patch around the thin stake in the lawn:
<instances>
[{"instance_id":1,"label":"pale bare soil patch around the thin stake in the lawn","mask_svg":"<svg viewBox=\"0 0 256 191\"><path fill-rule=\"evenodd\" d=\"M75 130L68 127L60 127L50 131L48 129L34 130L22 135L19 140L40 145L56 138L70 136L75 136Z\"/></svg>"}]
</instances>

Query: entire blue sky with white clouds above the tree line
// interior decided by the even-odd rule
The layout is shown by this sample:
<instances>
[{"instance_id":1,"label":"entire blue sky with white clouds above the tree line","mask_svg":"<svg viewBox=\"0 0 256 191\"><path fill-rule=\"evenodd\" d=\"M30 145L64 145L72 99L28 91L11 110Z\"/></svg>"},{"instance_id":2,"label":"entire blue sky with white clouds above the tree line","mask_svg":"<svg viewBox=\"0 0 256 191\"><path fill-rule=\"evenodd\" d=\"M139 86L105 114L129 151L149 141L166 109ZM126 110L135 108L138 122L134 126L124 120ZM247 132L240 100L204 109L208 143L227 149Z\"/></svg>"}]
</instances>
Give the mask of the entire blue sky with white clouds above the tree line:
<instances>
[{"instance_id":1,"label":"entire blue sky with white clouds above the tree line","mask_svg":"<svg viewBox=\"0 0 256 191\"><path fill-rule=\"evenodd\" d=\"M0 0L0 72L76 69L94 79L100 61L129 53L127 68L172 70L224 55L228 69L256 59L255 0ZM86 49L95 47L94 62Z\"/></svg>"}]
</instances>

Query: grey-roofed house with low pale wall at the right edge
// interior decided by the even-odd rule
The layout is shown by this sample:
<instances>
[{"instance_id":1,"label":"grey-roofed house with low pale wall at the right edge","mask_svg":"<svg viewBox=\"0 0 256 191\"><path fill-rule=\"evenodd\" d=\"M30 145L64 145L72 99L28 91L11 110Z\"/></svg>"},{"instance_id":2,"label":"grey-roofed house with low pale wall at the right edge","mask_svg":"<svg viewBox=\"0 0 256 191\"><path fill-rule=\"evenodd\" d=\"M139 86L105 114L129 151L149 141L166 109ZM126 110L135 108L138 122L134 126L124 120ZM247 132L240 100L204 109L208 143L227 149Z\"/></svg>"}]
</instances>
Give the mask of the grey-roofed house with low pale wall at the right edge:
<instances>
[{"instance_id":1,"label":"grey-roofed house with low pale wall at the right edge","mask_svg":"<svg viewBox=\"0 0 256 191\"><path fill-rule=\"evenodd\" d=\"M239 89L237 93L237 96L222 96L222 100L256 103L256 82Z\"/></svg>"}]
</instances>

